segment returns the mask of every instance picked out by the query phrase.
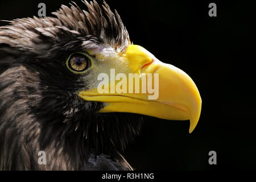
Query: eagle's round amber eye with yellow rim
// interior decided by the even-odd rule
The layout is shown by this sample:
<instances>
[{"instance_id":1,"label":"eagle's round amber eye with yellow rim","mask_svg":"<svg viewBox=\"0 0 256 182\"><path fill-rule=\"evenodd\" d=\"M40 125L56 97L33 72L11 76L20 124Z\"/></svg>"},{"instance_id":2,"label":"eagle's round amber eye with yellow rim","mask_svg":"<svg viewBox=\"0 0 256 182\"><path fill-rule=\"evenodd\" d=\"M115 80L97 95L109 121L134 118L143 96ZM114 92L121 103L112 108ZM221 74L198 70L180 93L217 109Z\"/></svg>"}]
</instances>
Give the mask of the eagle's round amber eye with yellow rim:
<instances>
[{"instance_id":1,"label":"eagle's round amber eye with yellow rim","mask_svg":"<svg viewBox=\"0 0 256 182\"><path fill-rule=\"evenodd\" d=\"M68 57L66 65L71 72L81 74L90 67L91 61L86 53L77 52Z\"/></svg>"}]
</instances>

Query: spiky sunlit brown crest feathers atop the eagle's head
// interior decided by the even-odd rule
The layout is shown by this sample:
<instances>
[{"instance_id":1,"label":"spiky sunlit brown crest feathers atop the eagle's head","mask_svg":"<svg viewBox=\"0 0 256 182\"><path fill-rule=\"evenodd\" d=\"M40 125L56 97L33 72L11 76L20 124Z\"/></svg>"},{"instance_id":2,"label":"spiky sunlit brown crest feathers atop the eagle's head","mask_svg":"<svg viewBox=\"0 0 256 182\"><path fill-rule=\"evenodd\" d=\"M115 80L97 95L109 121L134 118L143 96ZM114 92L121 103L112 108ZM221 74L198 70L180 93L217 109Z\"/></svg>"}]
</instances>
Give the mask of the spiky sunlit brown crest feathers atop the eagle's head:
<instances>
[{"instance_id":1,"label":"spiky sunlit brown crest feathers atop the eagle's head","mask_svg":"<svg viewBox=\"0 0 256 182\"><path fill-rule=\"evenodd\" d=\"M0 44L42 53L56 44L79 41L85 49L107 44L118 52L124 51L130 39L117 11L113 13L106 2L102 7L96 1L82 2L86 10L72 2L71 7L62 5L52 13L56 18L34 16L9 21L10 25L0 27Z\"/></svg>"}]
</instances>

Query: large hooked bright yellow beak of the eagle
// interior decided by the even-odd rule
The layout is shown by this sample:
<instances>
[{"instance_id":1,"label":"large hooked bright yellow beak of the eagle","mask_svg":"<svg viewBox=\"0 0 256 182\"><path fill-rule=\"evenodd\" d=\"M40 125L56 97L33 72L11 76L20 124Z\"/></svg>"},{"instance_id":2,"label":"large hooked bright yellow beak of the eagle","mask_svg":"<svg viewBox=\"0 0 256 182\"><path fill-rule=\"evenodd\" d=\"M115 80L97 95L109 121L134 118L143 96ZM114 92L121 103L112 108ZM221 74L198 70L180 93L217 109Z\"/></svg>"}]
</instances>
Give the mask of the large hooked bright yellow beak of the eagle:
<instances>
[{"instance_id":1,"label":"large hooked bright yellow beak of the eagle","mask_svg":"<svg viewBox=\"0 0 256 182\"><path fill-rule=\"evenodd\" d=\"M101 93L95 88L80 92L80 97L87 101L106 102L100 110L102 113L124 112L168 120L189 119L191 133L199 121L202 103L193 80L181 69L162 63L141 46L130 45L119 56L125 60L122 64L128 65L130 70L130 73L125 73L127 81L122 82L122 88L127 86L127 92L112 92L113 85L119 86L118 81L112 80L107 89L110 92ZM137 81L135 75L138 76Z\"/></svg>"}]
</instances>

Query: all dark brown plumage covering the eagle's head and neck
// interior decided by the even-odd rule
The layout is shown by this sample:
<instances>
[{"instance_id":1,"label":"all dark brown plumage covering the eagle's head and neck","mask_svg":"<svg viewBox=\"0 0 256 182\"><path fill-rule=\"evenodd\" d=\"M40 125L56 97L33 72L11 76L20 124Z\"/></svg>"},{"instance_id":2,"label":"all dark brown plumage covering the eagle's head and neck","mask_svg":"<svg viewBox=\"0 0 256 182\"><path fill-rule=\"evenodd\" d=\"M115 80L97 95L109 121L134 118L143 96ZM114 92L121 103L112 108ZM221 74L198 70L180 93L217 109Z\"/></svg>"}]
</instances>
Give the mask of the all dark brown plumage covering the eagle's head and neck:
<instances>
[{"instance_id":1,"label":"all dark brown plumage covering the eagle's head and neck","mask_svg":"<svg viewBox=\"0 0 256 182\"><path fill-rule=\"evenodd\" d=\"M0 27L0 169L131 170L119 151L141 129L141 115L98 113L102 102L84 101L86 82L68 72L74 51L130 44L119 15L84 2L61 6L57 18L23 18ZM47 164L38 164L46 151Z\"/></svg>"}]
</instances>

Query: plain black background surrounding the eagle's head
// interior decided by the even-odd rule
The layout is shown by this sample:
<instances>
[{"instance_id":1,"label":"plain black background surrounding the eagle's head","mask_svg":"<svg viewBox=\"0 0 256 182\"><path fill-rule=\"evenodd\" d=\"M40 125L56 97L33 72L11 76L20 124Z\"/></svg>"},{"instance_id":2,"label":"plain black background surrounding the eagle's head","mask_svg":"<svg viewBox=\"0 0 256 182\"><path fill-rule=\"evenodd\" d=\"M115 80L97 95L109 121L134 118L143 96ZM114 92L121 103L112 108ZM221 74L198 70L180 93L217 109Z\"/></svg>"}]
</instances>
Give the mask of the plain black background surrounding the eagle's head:
<instances>
[{"instance_id":1,"label":"plain black background surrounding the eagle's head","mask_svg":"<svg viewBox=\"0 0 256 182\"><path fill-rule=\"evenodd\" d=\"M47 16L68 0L0 2L0 19ZM84 7L81 1L75 1ZM98 1L101 3L102 1ZM199 88L203 107L192 134L189 122L145 117L142 134L125 151L136 169L256 169L256 6L246 1L106 1L117 9L134 44L183 69ZM208 5L217 4L217 17ZM0 25L5 25L1 22ZM208 152L217 152L209 165Z\"/></svg>"}]
</instances>

